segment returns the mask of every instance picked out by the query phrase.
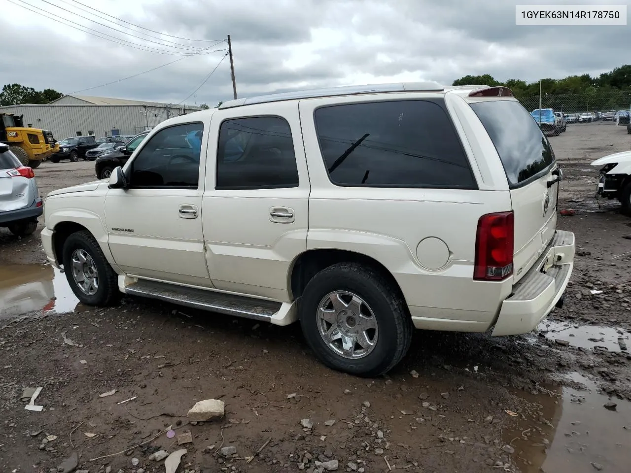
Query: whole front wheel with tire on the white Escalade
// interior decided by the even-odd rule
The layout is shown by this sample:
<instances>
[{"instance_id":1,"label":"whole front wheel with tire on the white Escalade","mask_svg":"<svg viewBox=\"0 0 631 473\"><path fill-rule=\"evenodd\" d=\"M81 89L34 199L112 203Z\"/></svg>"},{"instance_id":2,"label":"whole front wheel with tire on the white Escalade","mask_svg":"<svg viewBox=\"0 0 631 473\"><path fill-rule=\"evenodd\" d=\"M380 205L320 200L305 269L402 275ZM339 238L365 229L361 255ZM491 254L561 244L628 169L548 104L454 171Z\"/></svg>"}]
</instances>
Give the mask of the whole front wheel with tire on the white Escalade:
<instances>
[{"instance_id":1,"label":"whole front wheel with tire on the white Escalade","mask_svg":"<svg viewBox=\"0 0 631 473\"><path fill-rule=\"evenodd\" d=\"M89 231L66 239L62 260L68 284L84 304L107 306L120 295L116 273Z\"/></svg>"}]
</instances>

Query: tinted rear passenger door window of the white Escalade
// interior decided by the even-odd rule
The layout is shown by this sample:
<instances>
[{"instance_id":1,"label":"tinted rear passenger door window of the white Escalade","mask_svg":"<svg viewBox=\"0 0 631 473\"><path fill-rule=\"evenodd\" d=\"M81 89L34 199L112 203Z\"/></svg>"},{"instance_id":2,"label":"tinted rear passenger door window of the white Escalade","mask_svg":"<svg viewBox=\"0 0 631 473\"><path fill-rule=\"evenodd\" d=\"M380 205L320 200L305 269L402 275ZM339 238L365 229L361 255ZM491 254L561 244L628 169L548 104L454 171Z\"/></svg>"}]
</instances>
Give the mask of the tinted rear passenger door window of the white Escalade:
<instances>
[{"instance_id":1,"label":"tinted rear passenger door window of the white Escalade","mask_svg":"<svg viewBox=\"0 0 631 473\"><path fill-rule=\"evenodd\" d=\"M298 187L292 130L280 117L226 120L219 131L216 189Z\"/></svg>"}]
</instances>

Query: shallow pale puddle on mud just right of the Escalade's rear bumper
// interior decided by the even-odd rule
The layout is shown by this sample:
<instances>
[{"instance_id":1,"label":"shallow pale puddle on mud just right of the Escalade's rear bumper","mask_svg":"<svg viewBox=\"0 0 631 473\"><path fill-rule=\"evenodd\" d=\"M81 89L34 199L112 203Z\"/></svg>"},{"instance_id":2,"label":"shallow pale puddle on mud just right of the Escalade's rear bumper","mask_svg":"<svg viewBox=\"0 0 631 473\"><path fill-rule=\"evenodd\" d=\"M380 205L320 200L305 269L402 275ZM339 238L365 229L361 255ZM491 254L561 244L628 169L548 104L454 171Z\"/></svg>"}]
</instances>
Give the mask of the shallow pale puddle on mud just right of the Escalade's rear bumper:
<instances>
[{"instance_id":1,"label":"shallow pale puddle on mud just right of the Escalade's rear bumper","mask_svg":"<svg viewBox=\"0 0 631 473\"><path fill-rule=\"evenodd\" d=\"M546 320L537 328L547 339L558 340L561 343L568 342L571 346L608 351L628 351L631 347L630 334L613 327Z\"/></svg>"}]
</instances>

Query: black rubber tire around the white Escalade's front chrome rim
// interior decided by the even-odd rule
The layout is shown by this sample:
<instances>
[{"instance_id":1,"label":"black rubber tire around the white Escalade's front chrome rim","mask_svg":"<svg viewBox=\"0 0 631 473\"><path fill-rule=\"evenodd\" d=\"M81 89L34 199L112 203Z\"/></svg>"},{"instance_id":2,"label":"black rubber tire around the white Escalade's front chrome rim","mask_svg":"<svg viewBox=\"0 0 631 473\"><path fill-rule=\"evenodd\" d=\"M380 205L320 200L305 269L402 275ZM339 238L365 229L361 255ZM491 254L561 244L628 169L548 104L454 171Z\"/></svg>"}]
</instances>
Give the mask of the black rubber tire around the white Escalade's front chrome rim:
<instances>
[{"instance_id":1,"label":"black rubber tire around the white Escalade's front chrome rim","mask_svg":"<svg viewBox=\"0 0 631 473\"><path fill-rule=\"evenodd\" d=\"M90 255L97 269L98 288L92 295L83 292L76 281L74 281L71 259L75 250L84 250ZM118 276L109 262L107 262L107 259L105 259L105 255L103 255L103 251L98 246L97 240L89 231L77 231L66 238L62 250L62 261L70 288L73 290L74 295L84 304L107 307L115 303L121 296L117 283Z\"/></svg>"}]
</instances>

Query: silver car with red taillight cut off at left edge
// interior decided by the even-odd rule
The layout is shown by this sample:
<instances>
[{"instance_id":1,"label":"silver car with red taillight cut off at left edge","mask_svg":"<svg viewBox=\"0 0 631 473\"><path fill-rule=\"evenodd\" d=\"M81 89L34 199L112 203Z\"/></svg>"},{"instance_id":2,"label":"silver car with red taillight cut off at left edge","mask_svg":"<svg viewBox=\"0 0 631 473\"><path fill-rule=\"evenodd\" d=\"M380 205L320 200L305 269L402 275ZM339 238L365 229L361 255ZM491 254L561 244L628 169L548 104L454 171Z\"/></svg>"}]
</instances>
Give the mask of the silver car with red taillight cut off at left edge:
<instances>
[{"instance_id":1,"label":"silver car with red taillight cut off at left edge","mask_svg":"<svg viewBox=\"0 0 631 473\"><path fill-rule=\"evenodd\" d=\"M23 166L9 146L0 143L0 227L26 237L35 231L43 212L32 168Z\"/></svg>"}]
</instances>

